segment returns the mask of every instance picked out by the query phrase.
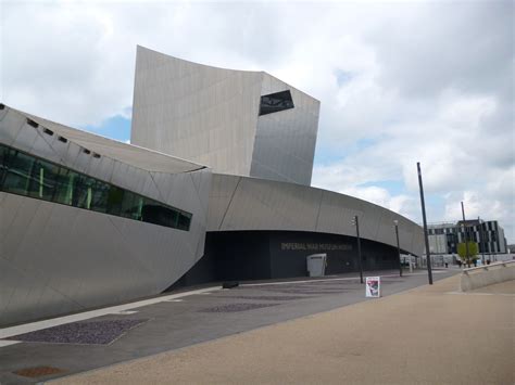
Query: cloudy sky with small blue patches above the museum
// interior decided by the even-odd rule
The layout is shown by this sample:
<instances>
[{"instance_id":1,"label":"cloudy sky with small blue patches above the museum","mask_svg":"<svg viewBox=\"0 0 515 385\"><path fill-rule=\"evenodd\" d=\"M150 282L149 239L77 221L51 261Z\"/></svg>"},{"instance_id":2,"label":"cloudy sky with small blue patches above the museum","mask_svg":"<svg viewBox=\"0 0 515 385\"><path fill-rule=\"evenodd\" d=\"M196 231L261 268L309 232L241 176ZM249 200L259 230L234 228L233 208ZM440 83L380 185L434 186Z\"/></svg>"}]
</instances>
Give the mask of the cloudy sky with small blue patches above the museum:
<instances>
[{"instance_id":1,"label":"cloudy sky with small blue patches above the museum","mask_svg":"<svg viewBox=\"0 0 515 385\"><path fill-rule=\"evenodd\" d=\"M515 243L514 2L4 1L0 101L128 141L136 46L321 101L312 185Z\"/></svg>"}]
</instances>

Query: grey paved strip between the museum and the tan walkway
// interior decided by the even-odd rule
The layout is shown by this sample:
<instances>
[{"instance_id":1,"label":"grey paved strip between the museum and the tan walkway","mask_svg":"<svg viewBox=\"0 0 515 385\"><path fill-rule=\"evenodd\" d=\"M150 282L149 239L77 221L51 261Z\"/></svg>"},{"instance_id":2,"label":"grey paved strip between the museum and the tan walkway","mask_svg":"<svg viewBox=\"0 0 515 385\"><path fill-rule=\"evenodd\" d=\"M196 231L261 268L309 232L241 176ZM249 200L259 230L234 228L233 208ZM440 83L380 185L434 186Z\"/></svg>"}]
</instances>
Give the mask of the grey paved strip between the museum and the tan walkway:
<instances>
[{"instance_id":1,"label":"grey paved strip between the museum and the tan walkway","mask_svg":"<svg viewBox=\"0 0 515 385\"><path fill-rule=\"evenodd\" d=\"M435 279L441 279L457 271L438 271ZM376 275L375 272L370 274ZM406 274L402 279L394 272L382 272L382 293L391 295L403 292L427 282L424 271ZM388 277L390 275L390 277ZM145 306L126 304L110 309L96 310L98 317L90 321L149 319L145 324L130 330L123 337L109 346L59 345L48 343L21 343L0 347L0 383L35 383L63 375L89 371L127 360L155 355L163 351L184 348L206 341L247 332L291 319L305 317L342 306L365 300L364 286L356 277L343 277L336 280L316 282L268 282L267 285L240 285L231 290L205 290L191 295L167 295L163 298L149 299ZM285 294L281 291L288 290ZM297 296L299 299L271 300L267 296ZM240 298L246 297L246 298ZM250 299L250 298L254 299ZM203 312L213 307L234 306L234 304L252 303L264 306L234 312ZM113 311L137 310L137 313L113 313ZM71 317L71 316L68 316ZM83 319L80 315L72 317ZM53 322L55 323L55 322ZM59 322L58 322L59 323ZM24 325L15 326L21 331ZM28 330L34 329L33 326ZM12 337L13 333L0 330L0 335ZM11 331L12 332L12 331ZM15 335L14 335L15 338ZM60 369L56 374L41 377L22 377L14 372L27 368L51 367Z\"/></svg>"}]
</instances>

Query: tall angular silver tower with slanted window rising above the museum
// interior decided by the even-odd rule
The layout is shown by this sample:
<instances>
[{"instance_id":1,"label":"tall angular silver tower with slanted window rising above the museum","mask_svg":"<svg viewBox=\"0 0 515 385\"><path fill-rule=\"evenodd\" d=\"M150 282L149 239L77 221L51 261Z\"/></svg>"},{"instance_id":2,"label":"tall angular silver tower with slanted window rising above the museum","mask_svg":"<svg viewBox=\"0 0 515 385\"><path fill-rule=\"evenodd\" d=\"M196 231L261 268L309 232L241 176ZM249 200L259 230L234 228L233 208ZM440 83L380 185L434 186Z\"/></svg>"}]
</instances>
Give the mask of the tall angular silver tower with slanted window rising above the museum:
<instances>
[{"instance_id":1,"label":"tall angular silver tower with slanted window rising above the museum","mask_svg":"<svg viewBox=\"0 0 515 385\"><path fill-rule=\"evenodd\" d=\"M310 185L319 106L264 72L138 47L130 140L216 172Z\"/></svg>"}]
</instances>

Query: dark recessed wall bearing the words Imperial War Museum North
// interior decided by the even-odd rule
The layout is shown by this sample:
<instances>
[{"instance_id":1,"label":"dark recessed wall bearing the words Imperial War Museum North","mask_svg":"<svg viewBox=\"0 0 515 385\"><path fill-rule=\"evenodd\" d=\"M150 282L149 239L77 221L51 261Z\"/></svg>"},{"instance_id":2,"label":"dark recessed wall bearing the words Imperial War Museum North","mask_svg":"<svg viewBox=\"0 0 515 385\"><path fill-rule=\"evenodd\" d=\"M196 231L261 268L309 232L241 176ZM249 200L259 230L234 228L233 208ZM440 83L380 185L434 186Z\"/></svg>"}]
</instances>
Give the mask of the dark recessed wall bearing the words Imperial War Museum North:
<instances>
[{"instance_id":1,"label":"dark recessed wall bearing the words Imperial War Museum North","mask_svg":"<svg viewBox=\"0 0 515 385\"><path fill-rule=\"evenodd\" d=\"M363 269L398 268L397 248L362 240ZM301 231L208 232L204 256L168 290L229 280L306 277L306 257L327 254L326 274L359 271L356 239Z\"/></svg>"}]
</instances>

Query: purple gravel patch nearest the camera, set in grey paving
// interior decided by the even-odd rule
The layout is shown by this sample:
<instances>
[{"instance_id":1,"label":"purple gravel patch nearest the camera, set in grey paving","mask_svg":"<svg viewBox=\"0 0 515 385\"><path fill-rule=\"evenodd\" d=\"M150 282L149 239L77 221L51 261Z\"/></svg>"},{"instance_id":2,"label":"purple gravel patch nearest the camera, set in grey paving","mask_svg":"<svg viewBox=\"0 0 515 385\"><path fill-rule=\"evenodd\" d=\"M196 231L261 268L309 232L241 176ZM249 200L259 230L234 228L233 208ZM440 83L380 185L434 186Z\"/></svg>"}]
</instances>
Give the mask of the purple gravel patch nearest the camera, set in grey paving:
<instances>
[{"instance_id":1,"label":"purple gravel patch nearest the camera, set in grey paving","mask_svg":"<svg viewBox=\"0 0 515 385\"><path fill-rule=\"evenodd\" d=\"M109 345L146 320L105 320L74 322L18 334L5 339L27 343Z\"/></svg>"}]
</instances>

